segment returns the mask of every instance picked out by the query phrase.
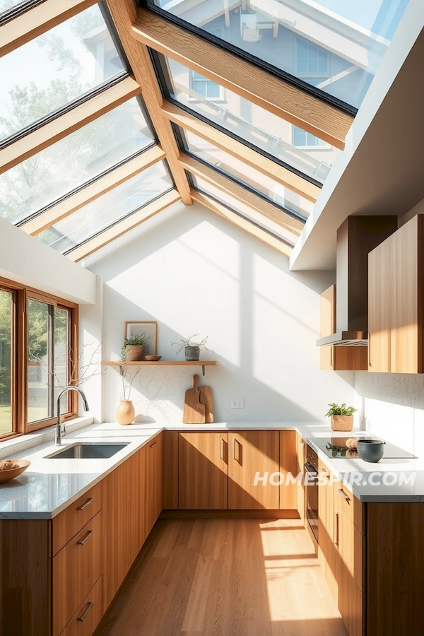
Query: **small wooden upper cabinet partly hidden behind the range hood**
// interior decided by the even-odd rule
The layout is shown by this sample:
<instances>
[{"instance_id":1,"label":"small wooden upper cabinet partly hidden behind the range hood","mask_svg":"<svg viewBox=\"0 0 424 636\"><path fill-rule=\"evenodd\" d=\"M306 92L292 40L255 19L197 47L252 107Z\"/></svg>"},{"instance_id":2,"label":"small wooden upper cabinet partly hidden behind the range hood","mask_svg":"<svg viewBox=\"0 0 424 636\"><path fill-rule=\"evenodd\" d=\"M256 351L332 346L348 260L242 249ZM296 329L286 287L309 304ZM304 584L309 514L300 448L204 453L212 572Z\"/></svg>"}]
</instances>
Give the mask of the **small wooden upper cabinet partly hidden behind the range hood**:
<instances>
[{"instance_id":1,"label":"small wooden upper cabinet partly hidden behind the range hood","mask_svg":"<svg viewBox=\"0 0 424 636\"><path fill-rule=\"evenodd\" d=\"M321 294L321 328L320 335L331 336L336 331L336 285L331 285ZM323 371L366 371L366 347L334 347L320 348L321 369Z\"/></svg>"}]
</instances>

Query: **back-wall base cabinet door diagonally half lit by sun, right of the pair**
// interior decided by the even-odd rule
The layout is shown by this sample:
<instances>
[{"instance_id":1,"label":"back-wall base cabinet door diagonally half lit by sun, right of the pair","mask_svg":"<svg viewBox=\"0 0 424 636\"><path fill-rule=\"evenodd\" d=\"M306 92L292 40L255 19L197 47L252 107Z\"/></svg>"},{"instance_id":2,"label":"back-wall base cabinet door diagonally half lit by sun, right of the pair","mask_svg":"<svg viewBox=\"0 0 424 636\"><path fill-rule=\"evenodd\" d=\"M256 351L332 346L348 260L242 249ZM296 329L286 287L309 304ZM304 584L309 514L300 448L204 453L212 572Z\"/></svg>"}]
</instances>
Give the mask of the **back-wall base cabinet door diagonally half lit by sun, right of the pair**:
<instances>
[{"instance_id":1,"label":"back-wall base cabinet door diagonally half lit by sun, right of the pair","mask_svg":"<svg viewBox=\"0 0 424 636\"><path fill-rule=\"evenodd\" d=\"M279 431L257 430L228 434L228 508L278 510L279 486L255 476L279 471ZM276 480L278 483L278 479Z\"/></svg>"}]
</instances>

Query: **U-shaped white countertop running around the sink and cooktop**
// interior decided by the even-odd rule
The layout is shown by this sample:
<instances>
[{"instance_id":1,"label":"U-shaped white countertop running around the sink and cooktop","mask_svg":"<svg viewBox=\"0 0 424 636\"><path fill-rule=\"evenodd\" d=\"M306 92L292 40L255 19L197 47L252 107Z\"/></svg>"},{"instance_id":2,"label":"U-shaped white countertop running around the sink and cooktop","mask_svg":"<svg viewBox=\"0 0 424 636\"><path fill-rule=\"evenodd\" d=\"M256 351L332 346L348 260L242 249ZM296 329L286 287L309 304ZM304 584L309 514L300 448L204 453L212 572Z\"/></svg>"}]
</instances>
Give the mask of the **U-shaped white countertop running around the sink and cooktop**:
<instances>
[{"instance_id":1,"label":"U-shaped white countertop running around the sink and cooktop","mask_svg":"<svg viewBox=\"0 0 424 636\"><path fill-rule=\"evenodd\" d=\"M84 428L78 428L84 426ZM147 444L162 430L297 430L317 451L326 466L346 485L346 488L364 502L416 502L424 501L424 462L421 459L382 459L378 464L368 464L361 459L329 458L314 444L318 437L349 433L335 433L326 424L290 422L238 422L206 425L182 423L140 423L120 426L117 423L86 425L83 420L67 425L68 435L62 445L85 442L129 442L124 449L110 459L46 459L57 447L52 440L53 431L28 441L29 436L8 442L8 457L29 459L27 471L18 478L0 484L0 519L52 519L59 512L81 497L108 473ZM353 431L355 432L355 431ZM48 439L50 438L50 439ZM21 440L21 441L20 441ZM42 442L42 443L40 443ZM36 446L29 447L36 443ZM0 457L4 457L4 447ZM369 482L371 473L375 481ZM379 473L381 475L379 476ZM414 483L399 484L399 476L406 479L415 474ZM357 478L358 483L352 481ZM382 479L387 479L384 485ZM391 485L396 479L396 485Z\"/></svg>"}]
</instances>

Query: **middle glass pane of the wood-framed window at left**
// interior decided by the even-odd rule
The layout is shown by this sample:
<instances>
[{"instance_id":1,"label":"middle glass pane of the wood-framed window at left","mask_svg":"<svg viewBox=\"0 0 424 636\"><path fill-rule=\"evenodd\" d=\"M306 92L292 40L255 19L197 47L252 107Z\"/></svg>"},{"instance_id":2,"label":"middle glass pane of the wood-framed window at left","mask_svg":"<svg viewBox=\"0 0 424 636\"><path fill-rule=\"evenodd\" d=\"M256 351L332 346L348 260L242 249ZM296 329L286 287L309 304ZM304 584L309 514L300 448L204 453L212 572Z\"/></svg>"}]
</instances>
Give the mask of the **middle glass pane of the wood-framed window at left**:
<instances>
[{"instance_id":1,"label":"middle glass pane of the wood-framed window at left","mask_svg":"<svg viewBox=\"0 0 424 636\"><path fill-rule=\"evenodd\" d=\"M28 423L52 416L49 399L49 305L28 300Z\"/></svg>"}]
</instances>

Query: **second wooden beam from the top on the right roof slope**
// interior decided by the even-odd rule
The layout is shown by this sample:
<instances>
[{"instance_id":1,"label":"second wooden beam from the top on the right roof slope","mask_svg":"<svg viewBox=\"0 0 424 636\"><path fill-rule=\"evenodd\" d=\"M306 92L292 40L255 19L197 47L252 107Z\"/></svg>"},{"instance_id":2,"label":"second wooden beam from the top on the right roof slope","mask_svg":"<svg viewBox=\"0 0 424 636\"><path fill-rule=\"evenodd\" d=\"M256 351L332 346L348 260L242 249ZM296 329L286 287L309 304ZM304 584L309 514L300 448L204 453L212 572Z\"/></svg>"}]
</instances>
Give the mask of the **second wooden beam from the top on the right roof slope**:
<instances>
[{"instance_id":1,"label":"second wooden beam from the top on the right roof slope","mask_svg":"<svg viewBox=\"0 0 424 636\"><path fill-rule=\"evenodd\" d=\"M264 155L252 150L249 146L245 146L244 143L214 128L211 124L202 122L201 119L198 119L175 104L164 101L162 112L171 122L181 126L184 130L192 132L202 139L205 139L205 141L209 141L213 146L247 163L247 165L259 170L259 172L266 175L266 177L270 177L276 182L281 183L281 185L296 194L300 194L300 196L303 196L308 201L312 201L312 203L317 201L321 189L307 181L307 179L296 175L295 172L291 172L291 170L279 165L275 161L264 157Z\"/></svg>"}]
</instances>

